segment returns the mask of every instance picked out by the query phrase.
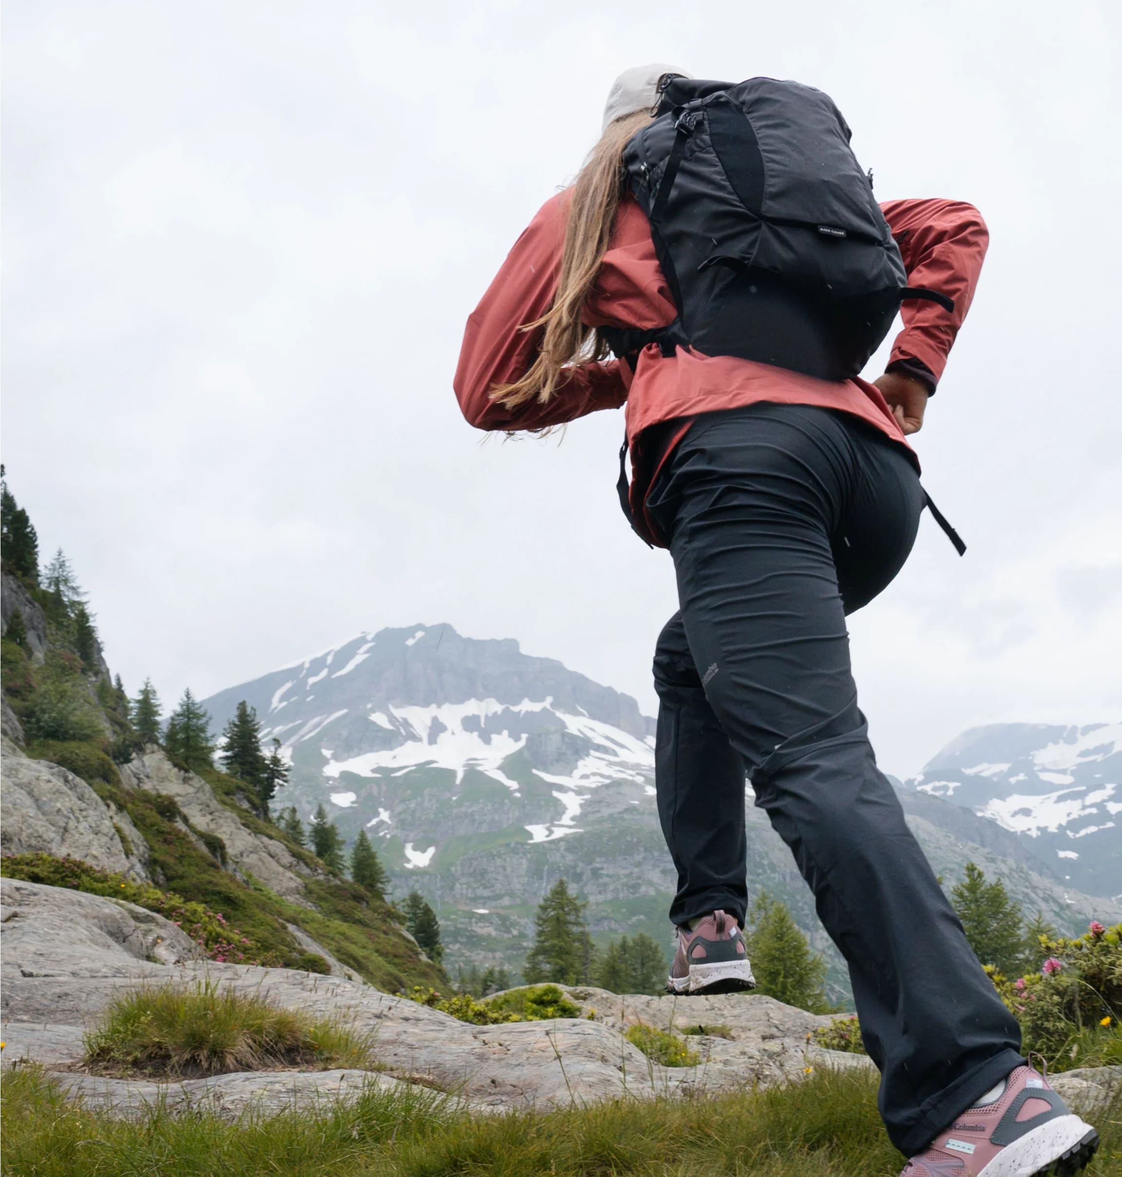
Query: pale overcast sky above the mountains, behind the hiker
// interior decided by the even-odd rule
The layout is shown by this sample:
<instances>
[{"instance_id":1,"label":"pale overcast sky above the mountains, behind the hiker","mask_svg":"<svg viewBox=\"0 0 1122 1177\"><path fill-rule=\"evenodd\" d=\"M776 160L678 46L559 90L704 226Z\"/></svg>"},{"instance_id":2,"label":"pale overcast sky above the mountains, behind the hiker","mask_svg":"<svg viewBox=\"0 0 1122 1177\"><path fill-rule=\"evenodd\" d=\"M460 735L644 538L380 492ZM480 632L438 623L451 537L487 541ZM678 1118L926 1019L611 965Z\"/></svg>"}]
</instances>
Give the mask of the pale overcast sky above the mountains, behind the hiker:
<instances>
[{"instance_id":1,"label":"pale overcast sky above the mountains, behind the hiker","mask_svg":"<svg viewBox=\"0 0 1122 1177\"><path fill-rule=\"evenodd\" d=\"M991 233L917 439L970 551L925 519L851 624L882 764L978 723L1116 720L1118 12L7 0L11 488L130 692L449 621L653 711L675 587L616 504L622 413L480 444L460 334L620 69L795 78L837 101L881 199L970 200Z\"/></svg>"}]
</instances>

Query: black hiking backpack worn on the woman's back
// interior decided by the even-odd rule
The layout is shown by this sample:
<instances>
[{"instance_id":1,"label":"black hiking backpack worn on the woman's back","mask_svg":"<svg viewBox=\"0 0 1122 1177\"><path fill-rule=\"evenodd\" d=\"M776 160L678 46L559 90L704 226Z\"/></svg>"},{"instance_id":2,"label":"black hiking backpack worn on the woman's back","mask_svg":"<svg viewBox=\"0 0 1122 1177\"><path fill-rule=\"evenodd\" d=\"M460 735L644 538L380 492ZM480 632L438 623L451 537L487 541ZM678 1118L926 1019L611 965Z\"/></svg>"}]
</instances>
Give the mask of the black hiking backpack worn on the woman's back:
<instances>
[{"instance_id":1,"label":"black hiking backpack worn on the woman's back","mask_svg":"<svg viewBox=\"0 0 1122 1177\"><path fill-rule=\"evenodd\" d=\"M826 380L857 375L905 298L899 250L832 100L794 81L668 74L624 152L678 319L609 330L617 355L657 341Z\"/></svg>"}]
</instances>

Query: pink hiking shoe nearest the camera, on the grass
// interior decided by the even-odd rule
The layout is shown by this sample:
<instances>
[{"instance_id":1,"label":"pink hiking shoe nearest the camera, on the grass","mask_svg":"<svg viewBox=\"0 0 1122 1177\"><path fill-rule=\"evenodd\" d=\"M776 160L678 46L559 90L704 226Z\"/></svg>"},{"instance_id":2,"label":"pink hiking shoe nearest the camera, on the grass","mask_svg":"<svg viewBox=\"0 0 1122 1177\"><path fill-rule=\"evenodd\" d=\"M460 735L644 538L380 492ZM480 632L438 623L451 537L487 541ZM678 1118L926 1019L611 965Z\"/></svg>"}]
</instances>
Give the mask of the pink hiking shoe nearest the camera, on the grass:
<instances>
[{"instance_id":1,"label":"pink hiking shoe nearest the camera, on the grass","mask_svg":"<svg viewBox=\"0 0 1122 1177\"><path fill-rule=\"evenodd\" d=\"M1098 1133L1031 1066L1018 1066L987 1096L901 1177L1074 1177L1090 1163Z\"/></svg>"}]
</instances>

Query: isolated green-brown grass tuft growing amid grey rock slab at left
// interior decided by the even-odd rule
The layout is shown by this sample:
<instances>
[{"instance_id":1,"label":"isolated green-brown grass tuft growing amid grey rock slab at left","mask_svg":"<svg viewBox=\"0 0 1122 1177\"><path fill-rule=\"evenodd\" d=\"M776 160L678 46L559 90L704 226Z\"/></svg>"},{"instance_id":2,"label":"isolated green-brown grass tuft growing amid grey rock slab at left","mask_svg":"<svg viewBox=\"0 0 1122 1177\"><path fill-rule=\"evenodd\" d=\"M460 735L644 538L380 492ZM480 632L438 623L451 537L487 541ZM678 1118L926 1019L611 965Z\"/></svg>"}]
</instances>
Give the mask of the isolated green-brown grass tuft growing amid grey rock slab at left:
<instances>
[{"instance_id":1,"label":"isolated green-brown grass tuft growing amid grey rock slab at left","mask_svg":"<svg viewBox=\"0 0 1122 1177\"><path fill-rule=\"evenodd\" d=\"M102 1073L201 1077L284 1066L363 1068L369 1038L213 982L126 993L86 1036Z\"/></svg>"}]
</instances>

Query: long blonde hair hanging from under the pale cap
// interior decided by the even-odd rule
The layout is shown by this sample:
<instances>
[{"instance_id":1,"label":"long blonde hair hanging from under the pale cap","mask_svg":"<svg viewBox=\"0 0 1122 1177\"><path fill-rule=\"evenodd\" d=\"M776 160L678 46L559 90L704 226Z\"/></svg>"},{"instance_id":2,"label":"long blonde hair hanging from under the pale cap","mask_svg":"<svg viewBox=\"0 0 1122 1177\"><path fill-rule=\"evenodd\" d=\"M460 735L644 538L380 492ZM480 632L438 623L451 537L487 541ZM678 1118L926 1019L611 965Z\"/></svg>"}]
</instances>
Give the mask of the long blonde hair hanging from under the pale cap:
<instances>
[{"instance_id":1,"label":"long blonde hair hanging from under the pale cap","mask_svg":"<svg viewBox=\"0 0 1122 1177\"><path fill-rule=\"evenodd\" d=\"M546 404L567 365L603 360L610 354L599 332L582 322L580 315L611 240L623 188L624 148L650 120L650 111L636 111L610 122L572 185L553 305L540 319L519 328L545 327L537 359L520 380L491 390L491 399L507 408L530 400Z\"/></svg>"}]
</instances>

